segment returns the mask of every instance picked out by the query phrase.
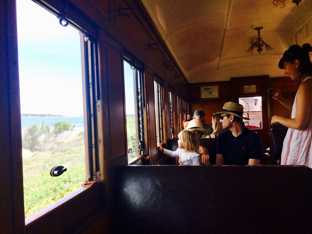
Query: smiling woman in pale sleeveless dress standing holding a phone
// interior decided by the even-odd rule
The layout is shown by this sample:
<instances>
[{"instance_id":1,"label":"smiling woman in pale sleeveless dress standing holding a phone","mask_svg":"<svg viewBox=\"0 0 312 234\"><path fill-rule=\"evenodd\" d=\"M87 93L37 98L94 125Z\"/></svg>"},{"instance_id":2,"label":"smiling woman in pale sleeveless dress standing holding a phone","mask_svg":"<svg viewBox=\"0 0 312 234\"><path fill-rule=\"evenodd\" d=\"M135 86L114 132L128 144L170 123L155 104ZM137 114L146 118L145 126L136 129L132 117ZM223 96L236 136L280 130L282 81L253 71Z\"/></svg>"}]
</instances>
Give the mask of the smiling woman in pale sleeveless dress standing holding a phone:
<instances>
[{"instance_id":1,"label":"smiling woman in pale sleeveless dress standing holding a phone","mask_svg":"<svg viewBox=\"0 0 312 234\"><path fill-rule=\"evenodd\" d=\"M278 64L285 75L299 82L299 89L292 104L281 96L279 89L270 90L273 98L291 110L291 119L274 115L271 124L288 127L281 155L282 165L305 165L312 168L312 63L310 44L292 45L285 51Z\"/></svg>"}]
</instances>

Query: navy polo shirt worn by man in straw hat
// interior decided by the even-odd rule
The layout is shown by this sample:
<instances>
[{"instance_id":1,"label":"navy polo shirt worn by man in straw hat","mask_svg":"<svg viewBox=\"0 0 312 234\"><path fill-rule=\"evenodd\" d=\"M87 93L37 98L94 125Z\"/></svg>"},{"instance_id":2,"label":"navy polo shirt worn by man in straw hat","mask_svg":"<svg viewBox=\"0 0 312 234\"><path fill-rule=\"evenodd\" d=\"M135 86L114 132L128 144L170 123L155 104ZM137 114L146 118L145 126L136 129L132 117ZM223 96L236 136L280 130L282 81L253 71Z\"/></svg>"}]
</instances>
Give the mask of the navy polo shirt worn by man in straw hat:
<instances>
[{"instance_id":1,"label":"navy polo shirt worn by man in straw hat","mask_svg":"<svg viewBox=\"0 0 312 234\"><path fill-rule=\"evenodd\" d=\"M262 142L258 134L247 129L242 123L241 134L237 137L230 130L217 138L217 154L222 154L225 165L248 165L250 158L262 158Z\"/></svg>"}]
</instances>

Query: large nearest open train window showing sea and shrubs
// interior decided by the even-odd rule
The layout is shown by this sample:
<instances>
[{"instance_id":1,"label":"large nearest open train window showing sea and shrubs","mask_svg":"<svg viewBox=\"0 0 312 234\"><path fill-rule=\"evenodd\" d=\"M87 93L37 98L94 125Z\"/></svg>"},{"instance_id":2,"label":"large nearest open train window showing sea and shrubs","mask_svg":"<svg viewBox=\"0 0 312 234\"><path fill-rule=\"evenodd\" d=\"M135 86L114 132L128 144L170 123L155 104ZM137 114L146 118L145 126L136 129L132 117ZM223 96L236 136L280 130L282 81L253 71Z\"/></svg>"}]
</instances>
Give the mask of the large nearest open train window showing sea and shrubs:
<instances>
[{"instance_id":1,"label":"large nearest open train window showing sea and shrubs","mask_svg":"<svg viewBox=\"0 0 312 234\"><path fill-rule=\"evenodd\" d=\"M97 44L62 26L17 0L25 217L96 179Z\"/></svg>"}]
</instances>

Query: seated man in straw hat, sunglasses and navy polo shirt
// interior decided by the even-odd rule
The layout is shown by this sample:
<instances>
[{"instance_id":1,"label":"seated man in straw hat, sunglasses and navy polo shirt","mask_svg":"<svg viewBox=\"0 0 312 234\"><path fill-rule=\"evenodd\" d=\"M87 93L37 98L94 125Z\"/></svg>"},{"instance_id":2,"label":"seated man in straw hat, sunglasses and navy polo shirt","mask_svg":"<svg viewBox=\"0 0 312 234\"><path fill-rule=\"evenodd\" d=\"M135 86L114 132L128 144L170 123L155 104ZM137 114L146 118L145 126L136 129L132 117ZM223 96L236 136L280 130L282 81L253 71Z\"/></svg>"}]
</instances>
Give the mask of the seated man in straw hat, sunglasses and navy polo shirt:
<instances>
[{"instance_id":1,"label":"seated man in straw hat, sunglasses and navy polo shirt","mask_svg":"<svg viewBox=\"0 0 312 234\"><path fill-rule=\"evenodd\" d=\"M249 120L243 116L243 106L227 102L222 112L214 115L221 115L220 123L227 130L217 139L216 165L258 165L262 158L261 138L242 122Z\"/></svg>"}]
</instances>

